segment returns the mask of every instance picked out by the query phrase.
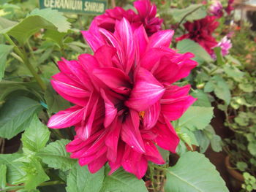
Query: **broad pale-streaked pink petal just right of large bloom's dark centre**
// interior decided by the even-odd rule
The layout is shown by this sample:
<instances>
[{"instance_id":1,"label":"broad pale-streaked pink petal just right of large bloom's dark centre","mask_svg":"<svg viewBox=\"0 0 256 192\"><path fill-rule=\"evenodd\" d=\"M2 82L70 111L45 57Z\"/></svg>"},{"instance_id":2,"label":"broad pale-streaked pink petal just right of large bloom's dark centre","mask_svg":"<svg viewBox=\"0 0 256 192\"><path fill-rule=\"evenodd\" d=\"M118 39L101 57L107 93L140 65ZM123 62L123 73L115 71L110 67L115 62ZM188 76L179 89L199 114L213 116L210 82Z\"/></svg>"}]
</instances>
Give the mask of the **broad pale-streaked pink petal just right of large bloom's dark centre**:
<instances>
[{"instance_id":1,"label":"broad pale-streaked pink petal just right of large bloom's dark centre","mask_svg":"<svg viewBox=\"0 0 256 192\"><path fill-rule=\"evenodd\" d=\"M135 85L125 105L137 111L147 110L165 93L165 88L146 69L140 67Z\"/></svg>"}]
</instances>

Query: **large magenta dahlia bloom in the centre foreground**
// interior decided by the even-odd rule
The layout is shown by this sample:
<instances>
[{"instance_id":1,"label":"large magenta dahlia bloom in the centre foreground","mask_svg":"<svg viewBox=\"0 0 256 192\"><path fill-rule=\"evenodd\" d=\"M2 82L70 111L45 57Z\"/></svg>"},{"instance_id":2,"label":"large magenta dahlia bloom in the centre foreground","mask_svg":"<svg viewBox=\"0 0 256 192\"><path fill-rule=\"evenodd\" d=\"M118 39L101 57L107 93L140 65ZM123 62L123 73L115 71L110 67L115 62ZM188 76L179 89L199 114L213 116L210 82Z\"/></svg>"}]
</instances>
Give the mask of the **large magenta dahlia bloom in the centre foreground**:
<instances>
[{"instance_id":1,"label":"large magenta dahlia bloom in the centre foreground","mask_svg":"<svg viewBox=\"0 0 256 192\"><path fill-rule=\"evenodd\" d=\"M48 126L75 126L67 151L90 172L108 162L110 174L123 166L140 179L148 161L165 164L156 145L176 152L179 139L170 120L180 118L195 99L189 85L173 82L197 64L192 53L169 48L171 30L148 38L143 26L133 30L123 18L114 34L95 21L82 33L94 55L59 62L53 88L75 106L53 115Z\"/></svg>"}]
</instances>

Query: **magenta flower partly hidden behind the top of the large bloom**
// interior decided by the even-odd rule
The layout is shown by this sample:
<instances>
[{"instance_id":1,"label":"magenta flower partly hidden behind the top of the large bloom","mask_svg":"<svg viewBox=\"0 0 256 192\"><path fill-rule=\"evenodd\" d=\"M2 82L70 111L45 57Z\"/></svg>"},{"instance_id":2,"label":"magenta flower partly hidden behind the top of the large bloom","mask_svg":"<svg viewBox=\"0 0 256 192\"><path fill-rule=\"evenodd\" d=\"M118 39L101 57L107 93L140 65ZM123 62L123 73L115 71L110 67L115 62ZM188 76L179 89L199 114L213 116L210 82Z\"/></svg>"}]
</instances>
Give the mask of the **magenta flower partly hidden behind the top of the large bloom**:
<instances>
[{"instance_id":1,"label":"magenta flower partly hidden behind the top of the large bloom","mask_svg":"<svg viewBox=\"0 0 256 192\"><path fill-rule=\"evenodd\" d=\"M157 7L155 4L151 4L150 0L138 0L134 2L134 6L138 14L132 9L124 10L122 7L106 10L105 14L95 18L97 25L113 32L115 31L116 21L126 18L133 29L143 25L148 36L161 30L163 20L156 17Z\"/></svg>"}]
</instances>

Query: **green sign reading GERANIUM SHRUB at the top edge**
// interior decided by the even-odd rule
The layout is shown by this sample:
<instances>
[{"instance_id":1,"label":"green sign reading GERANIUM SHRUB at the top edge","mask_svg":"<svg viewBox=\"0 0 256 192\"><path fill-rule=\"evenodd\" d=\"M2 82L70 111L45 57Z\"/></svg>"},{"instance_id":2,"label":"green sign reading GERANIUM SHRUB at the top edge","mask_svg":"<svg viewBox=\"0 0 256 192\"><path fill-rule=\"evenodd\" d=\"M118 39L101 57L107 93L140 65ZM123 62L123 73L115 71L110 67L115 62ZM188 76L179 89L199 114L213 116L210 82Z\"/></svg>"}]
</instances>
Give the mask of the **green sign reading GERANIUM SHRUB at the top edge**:
<instances>
[{"instance_id":1,"label":"green sign reading GERANIUM SHRUB at the top edge","mask_svg":"<svg viewBox=\"0 0 256 192\"><path fill-rule=\"evenodd\" d=\"M107 0L39 0L39 7L57 9L60 12L100 15L107 8Z\"/></svg>"}]
</instances>

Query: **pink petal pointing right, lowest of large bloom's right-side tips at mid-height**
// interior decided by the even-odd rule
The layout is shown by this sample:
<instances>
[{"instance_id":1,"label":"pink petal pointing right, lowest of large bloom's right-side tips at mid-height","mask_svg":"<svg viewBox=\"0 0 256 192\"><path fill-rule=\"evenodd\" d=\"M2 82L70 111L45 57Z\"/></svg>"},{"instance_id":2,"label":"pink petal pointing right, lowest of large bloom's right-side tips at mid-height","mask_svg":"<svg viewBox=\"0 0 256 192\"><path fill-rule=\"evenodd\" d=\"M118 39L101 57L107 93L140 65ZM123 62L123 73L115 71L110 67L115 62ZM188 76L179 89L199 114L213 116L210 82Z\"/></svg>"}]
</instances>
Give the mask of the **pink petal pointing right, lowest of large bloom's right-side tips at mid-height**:
<instances>
[{"instance_id":1,"label":"pink petal pointing right, lowest of large bloom's right-side tips at mid-height","mask_svg":"<svg viewBox=\"0 0 256 192\"><path fill-rule=\"evenodd\" d=\"M165 99L164 103L161 102L161 112L168 120L177 120L196 100L192 96L183 96L170 100Z\"/></svg>"}]
</instances>

